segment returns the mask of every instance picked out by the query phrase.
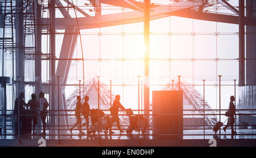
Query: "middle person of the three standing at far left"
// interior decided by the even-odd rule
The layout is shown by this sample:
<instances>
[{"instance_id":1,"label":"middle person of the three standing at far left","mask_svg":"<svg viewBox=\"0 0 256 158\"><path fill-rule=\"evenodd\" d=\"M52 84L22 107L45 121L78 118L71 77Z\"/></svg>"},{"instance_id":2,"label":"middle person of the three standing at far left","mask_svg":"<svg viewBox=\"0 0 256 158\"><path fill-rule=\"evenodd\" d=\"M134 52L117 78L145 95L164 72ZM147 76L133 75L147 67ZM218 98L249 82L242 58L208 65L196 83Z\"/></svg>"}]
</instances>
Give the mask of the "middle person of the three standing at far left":
<instances>
[{"instance_id":1,"label":"middle person of the three standing at far left","mask_svg":"<svg viewBox=\"0 0 256 158\"><path fill-rule=\"evenodd\" d=\"M36 99L36 95L33 93L31 94L31 99L27 102L27 106L30 107L30 127L33 122L33 135L36 135L35 127L38 124L38 108L39 108L39 101ZM31 132L31 131L30 131Z\"/></svg>"}]
</instances>

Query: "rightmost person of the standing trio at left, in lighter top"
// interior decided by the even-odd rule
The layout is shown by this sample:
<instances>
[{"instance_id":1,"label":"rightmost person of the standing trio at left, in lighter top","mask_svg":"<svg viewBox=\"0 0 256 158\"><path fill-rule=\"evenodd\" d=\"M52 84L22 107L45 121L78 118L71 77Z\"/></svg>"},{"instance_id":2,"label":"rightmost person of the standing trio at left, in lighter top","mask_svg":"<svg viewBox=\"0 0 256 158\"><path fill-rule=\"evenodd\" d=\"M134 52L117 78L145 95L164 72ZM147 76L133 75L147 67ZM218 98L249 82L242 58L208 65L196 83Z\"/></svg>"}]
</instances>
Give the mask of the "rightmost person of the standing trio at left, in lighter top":
<instances>
[{"instance_id":1,"label":"rightmost person of the standing trio at left, in lighter top","mask_svg":"<svg viewBox=\"0 0 256 158\"><path fill-rule=\"evenodd\" d=\"M49 103L46 98L44 98L44 93L40 92L39 94L39 110L40 117L43 123L43 132L40 135L46 135L46 115L48 114L47 108Z\"/></svg>"}]
</instances>

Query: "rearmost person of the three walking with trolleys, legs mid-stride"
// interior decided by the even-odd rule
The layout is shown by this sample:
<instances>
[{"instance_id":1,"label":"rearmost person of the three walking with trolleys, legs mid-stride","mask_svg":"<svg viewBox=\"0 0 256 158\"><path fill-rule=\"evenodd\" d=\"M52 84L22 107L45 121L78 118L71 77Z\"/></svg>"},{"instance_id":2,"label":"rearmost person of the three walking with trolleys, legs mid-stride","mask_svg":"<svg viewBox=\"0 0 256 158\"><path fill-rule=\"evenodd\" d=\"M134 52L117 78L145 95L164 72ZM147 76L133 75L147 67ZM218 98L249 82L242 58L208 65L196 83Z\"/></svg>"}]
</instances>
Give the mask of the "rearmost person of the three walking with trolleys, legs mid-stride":
<instances>
[{"instance_id":1,"label":"rearmost person of the three walking with trolleys, legs mid-stride","mask_svg":"<svg viewBox=\"0 0 256 158\"><path fill-rule=\"evenodd\" d=\"M81 97L79 95L77 95L76 98L77 98L76 110L75 110L76 123L69 129L69 131L72 134L73 128L75 128L77 126L79 128L79 132L80 132L79 134L81 135L81 134L84 134L84 132L82 132L82 129L81 129L81 118L80 118L82 103L81 103Z\"/></svg>"}]
</instances>

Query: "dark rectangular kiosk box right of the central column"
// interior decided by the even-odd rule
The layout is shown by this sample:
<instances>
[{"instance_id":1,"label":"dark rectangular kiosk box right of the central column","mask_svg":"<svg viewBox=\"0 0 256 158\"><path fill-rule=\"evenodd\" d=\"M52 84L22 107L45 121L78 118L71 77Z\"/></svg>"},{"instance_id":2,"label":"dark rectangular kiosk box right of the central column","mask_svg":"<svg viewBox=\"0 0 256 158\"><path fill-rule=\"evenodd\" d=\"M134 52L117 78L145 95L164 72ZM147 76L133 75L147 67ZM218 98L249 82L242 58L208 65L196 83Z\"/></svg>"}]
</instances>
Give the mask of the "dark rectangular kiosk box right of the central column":
<instances>
[{"instance_id":1,"label":"dark rectangular kiosk box right of the central column","mask_svg":"<svg viewBox=\"0 0 256 158\"><path fill-rule=\"evenodd\" d=\"M152 91L152 114L155 138L183 138L183 91Z\"/></svg>"}]
</instances>

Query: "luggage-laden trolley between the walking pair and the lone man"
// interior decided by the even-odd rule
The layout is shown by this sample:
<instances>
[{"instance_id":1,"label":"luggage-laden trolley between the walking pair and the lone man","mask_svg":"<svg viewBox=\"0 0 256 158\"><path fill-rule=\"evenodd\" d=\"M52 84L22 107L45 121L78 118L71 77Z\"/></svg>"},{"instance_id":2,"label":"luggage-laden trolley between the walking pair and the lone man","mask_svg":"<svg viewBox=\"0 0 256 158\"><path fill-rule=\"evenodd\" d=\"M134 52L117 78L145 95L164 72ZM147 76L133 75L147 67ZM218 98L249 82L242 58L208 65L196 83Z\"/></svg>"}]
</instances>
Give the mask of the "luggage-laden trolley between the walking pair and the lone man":
<instances>
[{"instance_id":1,"label":"luggage-laden trolley between the walking pair and the lone man","mask_svg":"<svg viewBox=\"0 0 256 158\"><path fill-rule=\"evenodd\" d=\"M90 121L92 123L92 127L89 128L88 134L95 134L96 132L102 132L102 130L104 130L105 134L108 134L110 118L109 116L105 116L102 110L92 109Z\"/></svg>"}]
</instances>

